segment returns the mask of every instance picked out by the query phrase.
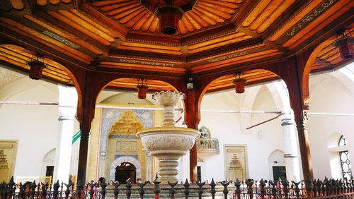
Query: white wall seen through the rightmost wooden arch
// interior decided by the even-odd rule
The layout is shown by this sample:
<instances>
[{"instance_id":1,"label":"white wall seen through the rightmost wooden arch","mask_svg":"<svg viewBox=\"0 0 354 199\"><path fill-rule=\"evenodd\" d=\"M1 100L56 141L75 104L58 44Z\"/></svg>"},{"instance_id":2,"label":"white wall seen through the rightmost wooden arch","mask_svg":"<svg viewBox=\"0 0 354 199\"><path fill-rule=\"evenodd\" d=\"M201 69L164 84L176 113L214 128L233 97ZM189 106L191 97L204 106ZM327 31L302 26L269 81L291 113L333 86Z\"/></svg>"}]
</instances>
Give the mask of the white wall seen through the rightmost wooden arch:
<instances>
[{"instance_id":1,"label":"white wall seen through the rightmost wooden arch","mask_svg":"<svg viewBox=\"0 0 354 199\"><path fill-rule=\"evenodd\" d=\"M310 102L310 112L354 114L354 97L350 90L327 74L310 78ZM309 115L309 142L315 178L338 177L338 171L331 171L330 161L335 164L339 159L331 160L333 152L328 150L329 138L333 133L346 137L349 154L353 157L353 127L354 116Z\"/></svg>"}]
</instances>

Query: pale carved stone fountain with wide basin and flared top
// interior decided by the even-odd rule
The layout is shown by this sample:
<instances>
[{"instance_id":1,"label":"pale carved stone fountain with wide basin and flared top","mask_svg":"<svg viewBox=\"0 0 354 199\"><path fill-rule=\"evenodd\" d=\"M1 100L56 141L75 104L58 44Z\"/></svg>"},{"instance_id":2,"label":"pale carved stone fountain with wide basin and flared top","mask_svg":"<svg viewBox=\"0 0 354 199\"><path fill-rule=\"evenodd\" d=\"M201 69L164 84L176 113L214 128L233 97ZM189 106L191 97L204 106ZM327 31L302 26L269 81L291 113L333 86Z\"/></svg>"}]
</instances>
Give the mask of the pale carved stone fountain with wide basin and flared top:
<instances>
[{"instance_id":1,"label":"pale carved stone fountain with wide basin and flared top","mask_svg":"<svg viewBox=\"0 0 354 199\"><path fill-rule=\"evenodd\" d=\"M173 108L184 97L181 92L155 92L154 100L164 106L164 124L162 127L148 128L137 133L144 148L159 159L161 183L176 182L178 159L193 147L199 132L193 128L176 127Z\"/></svg>"}]
</instances>

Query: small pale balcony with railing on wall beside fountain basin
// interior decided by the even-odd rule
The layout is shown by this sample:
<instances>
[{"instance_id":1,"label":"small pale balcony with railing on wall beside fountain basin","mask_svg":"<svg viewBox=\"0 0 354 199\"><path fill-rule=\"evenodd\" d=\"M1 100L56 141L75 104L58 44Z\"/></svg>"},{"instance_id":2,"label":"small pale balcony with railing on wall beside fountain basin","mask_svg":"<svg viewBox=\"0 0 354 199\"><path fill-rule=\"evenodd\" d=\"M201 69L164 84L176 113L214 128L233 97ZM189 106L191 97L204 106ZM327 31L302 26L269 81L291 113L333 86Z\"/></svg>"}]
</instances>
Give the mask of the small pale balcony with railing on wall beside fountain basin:
<instances>
[{"instance_id":1,"label":"small pale balcony with railing on wall beside fountain basin","mask_svg":"<svg viewBox=\"0 0 354 199\"><path fill-rule=\"evenodd\" d=\"M219 140L210 138L198 138L197 139L198 157L203 161L213 155L218 155Z\"/></svg>"}]
</instances>

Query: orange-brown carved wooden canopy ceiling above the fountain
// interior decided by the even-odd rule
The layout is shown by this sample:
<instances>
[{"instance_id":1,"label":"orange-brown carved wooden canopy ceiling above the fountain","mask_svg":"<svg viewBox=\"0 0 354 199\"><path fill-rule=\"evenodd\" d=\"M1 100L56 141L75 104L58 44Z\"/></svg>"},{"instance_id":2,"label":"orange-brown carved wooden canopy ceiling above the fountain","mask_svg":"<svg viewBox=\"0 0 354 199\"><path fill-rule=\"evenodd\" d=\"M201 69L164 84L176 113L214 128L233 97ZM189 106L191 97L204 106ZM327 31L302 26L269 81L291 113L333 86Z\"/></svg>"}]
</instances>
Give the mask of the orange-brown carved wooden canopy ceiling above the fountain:
<instances>
[{"instance_id":1,"label":"orange-brown carved wooden canopy ceiling above the fountain","mask_svg":"<svg viewBox=\"0 0 354 199\"><path fill-rule=\"evenodd\" d=\"M336 30L352 32L350 0L198 0L179 20L176 35L163 35L159 19L138 0L0 1L0 64L28 72L33 54L45 54L45 78L72 84L65 65L91 71L164 76L207 76L230 68L248 84L278 78L248 70L322 43L313 71L339 67ZM224 76L209 91L232 87ZM152 90L173 90L147 80ZM108 87L131 89L137 78Z\"/></svg>"}]
</instances>

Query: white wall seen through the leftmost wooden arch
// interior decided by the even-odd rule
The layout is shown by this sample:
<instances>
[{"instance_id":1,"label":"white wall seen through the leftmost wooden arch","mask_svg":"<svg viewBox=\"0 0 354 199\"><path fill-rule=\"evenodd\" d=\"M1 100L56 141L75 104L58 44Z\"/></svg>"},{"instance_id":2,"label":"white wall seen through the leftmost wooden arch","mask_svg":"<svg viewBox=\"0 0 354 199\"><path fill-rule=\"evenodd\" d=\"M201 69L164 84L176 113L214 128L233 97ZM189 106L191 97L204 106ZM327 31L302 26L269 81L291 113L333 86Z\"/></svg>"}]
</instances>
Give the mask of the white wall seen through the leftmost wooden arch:
<instances>
[{"instance_id":1,"label":"white wall seen through the leftmost wooden arch","mask_svg":"<svg viewBox=\"0 0 354 199\"><path fill-rule=\"evenodd\" d=\"M0 101L58 102L58 86L24 77L0 88ZM18 140L13 176L43 176L42 160L56 147L59 131L58 107L48 105L2 104L0 139ZM75 132L79 124L75 121ZM73 146L72 174L77 172L78 143ZM54 166L54 164L53 164Z\"/></svg>"}]
</instances>

